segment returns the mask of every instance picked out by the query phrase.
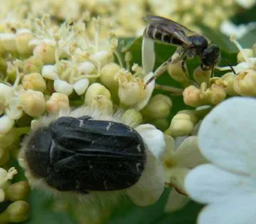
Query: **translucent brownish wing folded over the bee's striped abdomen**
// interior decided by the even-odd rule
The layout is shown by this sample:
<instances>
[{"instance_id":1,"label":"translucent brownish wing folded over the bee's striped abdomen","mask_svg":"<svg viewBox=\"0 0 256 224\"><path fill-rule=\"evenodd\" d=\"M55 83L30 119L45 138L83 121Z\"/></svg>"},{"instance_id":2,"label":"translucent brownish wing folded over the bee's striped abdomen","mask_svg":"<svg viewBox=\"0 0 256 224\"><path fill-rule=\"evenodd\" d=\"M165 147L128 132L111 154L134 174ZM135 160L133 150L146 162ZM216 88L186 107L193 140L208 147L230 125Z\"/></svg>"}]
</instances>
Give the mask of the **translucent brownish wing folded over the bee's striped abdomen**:
<instances>
[{"instance_id":1,"label":"translucent brownish wing folded over the bee's striped abdomen","mask_svg":"<svg viewBox=\"0 0 256 224\"><path fill-rule=\"evenodd\" d=\"M190 47L192 45L191 40L188 39L191 35L198 35L196 32L189 30L185 26L182 26L171 19L164 18L161 16L145 16L144 21L156 26L158 30L163 33L167 33L174 38L181 40L183 45Z\"/></svg>"}]
</instances>

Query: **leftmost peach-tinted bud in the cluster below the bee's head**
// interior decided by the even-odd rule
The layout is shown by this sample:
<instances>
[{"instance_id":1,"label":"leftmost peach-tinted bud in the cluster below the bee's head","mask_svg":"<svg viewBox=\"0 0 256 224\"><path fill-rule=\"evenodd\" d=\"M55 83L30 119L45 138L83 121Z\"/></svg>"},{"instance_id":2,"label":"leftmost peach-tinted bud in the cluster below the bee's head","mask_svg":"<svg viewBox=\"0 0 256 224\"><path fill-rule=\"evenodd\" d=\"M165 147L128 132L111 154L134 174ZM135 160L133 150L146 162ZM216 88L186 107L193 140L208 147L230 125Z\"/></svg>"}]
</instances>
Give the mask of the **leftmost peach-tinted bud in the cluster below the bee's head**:
<instances>
[{"instance_id":1,"label":"leftmost peach-tinted bud in the cluster below the bee's head","mask_svg":"<svg viewBox=\"0 0 256 224\"><path fill-rule=\"evenodd\" d=\"M186 89L183 91L183 101L186 103L188 106L201 106L202 101L201 101L201 90L198 89L196 86L188 86Z\"/></svg>"}]
</instances>

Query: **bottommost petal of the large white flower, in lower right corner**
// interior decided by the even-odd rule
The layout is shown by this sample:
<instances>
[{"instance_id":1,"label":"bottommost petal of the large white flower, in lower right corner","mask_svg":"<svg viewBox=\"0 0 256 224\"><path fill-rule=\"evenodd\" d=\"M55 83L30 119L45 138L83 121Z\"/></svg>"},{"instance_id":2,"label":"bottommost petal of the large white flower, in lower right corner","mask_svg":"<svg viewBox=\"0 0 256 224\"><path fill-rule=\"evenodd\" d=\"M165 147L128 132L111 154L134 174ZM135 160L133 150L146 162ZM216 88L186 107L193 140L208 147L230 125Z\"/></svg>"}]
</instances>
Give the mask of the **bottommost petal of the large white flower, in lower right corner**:
<instances>
[{"instance_id":1,"label":"bottommost petal of the large white flower, in lower right corner","mask_svg":"<svg viewBox=\"0 0 256 224\"><path fill-rule=\"evenodd\" d=\"M198 224L252 224L256 220L256 196L234 196L230 201L203 208Z\"/></svg>"}]
</instances>

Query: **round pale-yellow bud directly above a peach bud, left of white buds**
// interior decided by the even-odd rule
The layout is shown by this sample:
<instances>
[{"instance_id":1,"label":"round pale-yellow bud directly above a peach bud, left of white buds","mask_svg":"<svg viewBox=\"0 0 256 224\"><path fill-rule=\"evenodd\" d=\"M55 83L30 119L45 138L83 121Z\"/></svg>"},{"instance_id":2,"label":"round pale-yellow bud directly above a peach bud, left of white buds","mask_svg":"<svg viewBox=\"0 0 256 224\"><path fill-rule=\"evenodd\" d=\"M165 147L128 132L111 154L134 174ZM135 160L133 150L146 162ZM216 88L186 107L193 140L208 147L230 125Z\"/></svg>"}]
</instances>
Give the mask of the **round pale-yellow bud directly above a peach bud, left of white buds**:
<instances>
[{"instance_id":1,"label":"round pale-yellow bud directly above a peach bud, left of white buds","mask_svg":"<svg viewBox=\"0 0 256 224\"><path fill-rule=\"evenodd\" d=\"M22 79L23 89L33 89L35 91L45 91L46 82L41 76L41 74L33 72L31 74L26 74Z\"/></svg>"}]
</instances>

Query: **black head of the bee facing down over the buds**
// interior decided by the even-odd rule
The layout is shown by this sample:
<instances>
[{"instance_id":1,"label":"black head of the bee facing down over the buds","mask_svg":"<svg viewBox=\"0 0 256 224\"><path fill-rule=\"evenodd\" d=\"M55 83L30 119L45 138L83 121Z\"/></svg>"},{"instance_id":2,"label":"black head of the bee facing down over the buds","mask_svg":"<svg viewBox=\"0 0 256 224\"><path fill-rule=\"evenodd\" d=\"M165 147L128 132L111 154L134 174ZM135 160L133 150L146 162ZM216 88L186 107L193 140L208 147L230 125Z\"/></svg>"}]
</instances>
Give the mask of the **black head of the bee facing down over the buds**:
<instances>
[{"instance_id":1,"label":"black head of the bee facing down over the buds","mask_svg":"<svg viewBox=\"0 0 256 224\"><path fill-rule=\"evenodd\" d=\"M213 67L220 58L220 48L217 45L210 45L201 54L203 67Z\"/></svg>"}]
</instances>

